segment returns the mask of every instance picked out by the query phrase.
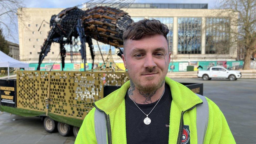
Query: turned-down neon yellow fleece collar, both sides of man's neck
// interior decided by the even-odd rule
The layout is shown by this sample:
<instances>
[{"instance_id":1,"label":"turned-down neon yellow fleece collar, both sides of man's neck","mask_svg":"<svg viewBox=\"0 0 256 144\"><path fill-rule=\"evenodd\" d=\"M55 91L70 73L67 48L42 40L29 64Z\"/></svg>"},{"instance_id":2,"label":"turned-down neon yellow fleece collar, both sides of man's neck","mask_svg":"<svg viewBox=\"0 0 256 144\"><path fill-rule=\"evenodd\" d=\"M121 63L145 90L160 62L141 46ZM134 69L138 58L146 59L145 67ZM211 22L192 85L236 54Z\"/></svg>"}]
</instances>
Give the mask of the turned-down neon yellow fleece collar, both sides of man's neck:
<instances>
[{"instance_id":1,"label":"turned-down neon yellow fleece collar, both sides of man's neck","mask_svg":"<svg viewBox=\"0 0 256 144\"><path fill-rule=\"evenodd\" d=\"M186 86L165 77L165 82L170 86L173 102L185 111L194 105L202 103L202 100ZM107 97L95 102L98 109L103 110L106 114L111 113L118 108L124 100L125 94L130 87L130 81L127 81L121 88L115 90Z\"/></svg>"}]
</instances>

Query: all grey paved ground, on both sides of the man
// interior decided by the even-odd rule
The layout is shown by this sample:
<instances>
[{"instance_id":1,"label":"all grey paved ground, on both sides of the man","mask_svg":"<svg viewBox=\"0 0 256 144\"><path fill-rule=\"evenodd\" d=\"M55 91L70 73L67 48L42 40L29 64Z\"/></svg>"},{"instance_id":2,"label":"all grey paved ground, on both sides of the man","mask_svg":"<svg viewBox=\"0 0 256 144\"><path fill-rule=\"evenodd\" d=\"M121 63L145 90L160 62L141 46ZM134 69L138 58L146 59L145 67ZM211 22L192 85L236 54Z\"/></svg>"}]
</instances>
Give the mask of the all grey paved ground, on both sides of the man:
<instances>
[{"instance_id":1,"label":"all grey paved ground, on both sides of the man","mask_svg":"<svg viewBox=\"0 0 256 144\"><path fill-rule=\"evenodd\" d=\"M256 79L173 78L178 82L204 83L204 96L226 116L237 143L256 143ZM74 143L75 137L47 133L40 118L0 114L0 143Z\"/></svg>"}]
</instances>

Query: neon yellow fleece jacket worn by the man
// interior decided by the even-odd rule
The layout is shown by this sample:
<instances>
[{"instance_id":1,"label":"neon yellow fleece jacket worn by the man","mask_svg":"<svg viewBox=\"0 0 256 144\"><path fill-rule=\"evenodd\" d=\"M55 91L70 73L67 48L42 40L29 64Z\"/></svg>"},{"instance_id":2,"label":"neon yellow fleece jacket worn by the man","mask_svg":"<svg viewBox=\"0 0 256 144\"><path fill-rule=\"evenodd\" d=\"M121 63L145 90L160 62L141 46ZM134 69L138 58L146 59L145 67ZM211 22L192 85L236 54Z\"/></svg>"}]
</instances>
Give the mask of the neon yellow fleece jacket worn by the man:
<instances>
[{"instance_id":1,"label":"neon yellow fleece jacket worn by the man","mask_svg":"<svg viewBox=\"0 0 256 144\"><path fill-rule=\"evenodd\" d=\"M172 93L172 103L170 110L169 143L177 143L180 132L181 115L184 125L189 125L190 144L197 143L196 129L196 105L202 100L184 85L166 77L165 82L170 86ZM97 109L103 110L109 116L110 131L107 131L108 143L126 143L126 124L125 124L125 94L130 87L130 81L126 82L120 89L115 90L107 97L95 102ZM236 143L228 127L227 121L218 108L210 99L206 98L209 105L209 119L204 143ZM195 108L194 108L195 107ZM193 108L193 109L191 109ZM78 143L97 143L94 129L93 108L85 117L83 124L78 132L75 144ZM191 110L189 110L191 109ZM109 136L111 133L111 137ZM111 138L111 142L109 139ZM178 142L179 143L179 142Z\"/></svg>"}]
</instances>

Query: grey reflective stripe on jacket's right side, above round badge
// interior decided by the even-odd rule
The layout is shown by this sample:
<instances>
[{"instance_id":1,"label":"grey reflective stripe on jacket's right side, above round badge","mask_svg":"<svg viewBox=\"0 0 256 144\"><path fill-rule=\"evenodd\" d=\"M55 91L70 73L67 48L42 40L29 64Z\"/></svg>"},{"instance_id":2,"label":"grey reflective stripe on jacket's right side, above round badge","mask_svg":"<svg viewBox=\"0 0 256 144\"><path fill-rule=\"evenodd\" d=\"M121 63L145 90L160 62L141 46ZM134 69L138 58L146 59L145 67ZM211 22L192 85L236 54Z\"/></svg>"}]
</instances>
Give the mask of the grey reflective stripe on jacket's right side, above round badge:
<instances>
[{"instance_id":1,"label":"grey reflective stripe on jacket's right side, above round badge","mask_svg":"<svg viewBox=\"0 0 256 144\"><path fill-rule=\"evenodd\" d=\"M196 106L197 143L201 144L204 142L204 137L207 129L209 106L204 96L199 94L196 95L203 101L203 104L199 104Z\"/></svg>"}]
</instances>

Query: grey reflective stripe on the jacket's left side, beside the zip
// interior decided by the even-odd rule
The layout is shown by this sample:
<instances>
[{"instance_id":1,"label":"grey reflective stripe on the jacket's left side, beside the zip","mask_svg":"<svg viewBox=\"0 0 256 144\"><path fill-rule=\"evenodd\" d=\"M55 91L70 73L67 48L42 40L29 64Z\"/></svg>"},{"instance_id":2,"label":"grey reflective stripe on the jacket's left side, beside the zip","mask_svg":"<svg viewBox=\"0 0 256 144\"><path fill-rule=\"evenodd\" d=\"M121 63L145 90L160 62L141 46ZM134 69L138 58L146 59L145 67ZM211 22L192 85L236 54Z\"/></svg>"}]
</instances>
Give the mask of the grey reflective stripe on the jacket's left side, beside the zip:
<instances>
[{"instance_id":1,"label":"grey reflective stripe on the jacket's left side, beside the zip","mask_svg":"<svg viewBox=\"0 0 256 144\"><path fill-rule=\"evenodd\" d=\"M106 144L107 130L106 130L105 114L103 112L100 112L97 109L94 112L94 127L95 127L95 135L96 135L97 143Z\"/></svg>"}]
</instances>

